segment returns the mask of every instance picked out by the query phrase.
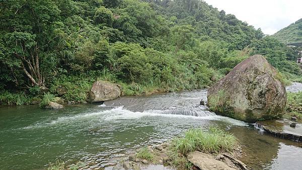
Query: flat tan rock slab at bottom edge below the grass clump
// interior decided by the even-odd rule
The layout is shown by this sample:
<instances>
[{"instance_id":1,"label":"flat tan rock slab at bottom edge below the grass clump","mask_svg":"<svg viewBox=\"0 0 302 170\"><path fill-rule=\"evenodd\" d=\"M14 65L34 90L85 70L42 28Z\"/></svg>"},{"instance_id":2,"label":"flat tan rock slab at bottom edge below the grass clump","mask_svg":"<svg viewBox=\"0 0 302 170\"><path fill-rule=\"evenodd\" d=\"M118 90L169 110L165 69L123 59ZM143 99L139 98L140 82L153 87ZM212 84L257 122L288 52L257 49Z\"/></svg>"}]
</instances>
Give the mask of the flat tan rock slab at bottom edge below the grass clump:
<instances>
[{"instance_id":1,"label":"flat tan rock slab at bottom edge below the grass clump","mask_svg":"<svg viewBox=\"0 0 302 170\"><path fill-rule=\"evenodd\" d=\"M199 151L190 152L187 157L188 160L195 166L197 166L199 169L235 170L235 168L228 166L224 162L216 160L212 155Z\"/></svg>"}]
</instances>

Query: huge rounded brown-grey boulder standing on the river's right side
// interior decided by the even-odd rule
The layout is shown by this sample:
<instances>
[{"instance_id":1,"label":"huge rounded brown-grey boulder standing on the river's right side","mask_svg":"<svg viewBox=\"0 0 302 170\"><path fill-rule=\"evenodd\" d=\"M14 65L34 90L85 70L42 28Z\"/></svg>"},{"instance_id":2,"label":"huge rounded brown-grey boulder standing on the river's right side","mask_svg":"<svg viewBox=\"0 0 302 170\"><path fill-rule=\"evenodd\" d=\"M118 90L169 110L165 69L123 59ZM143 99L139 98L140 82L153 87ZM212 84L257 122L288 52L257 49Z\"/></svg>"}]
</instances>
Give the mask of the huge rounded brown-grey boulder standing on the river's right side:
<instances>
[{"instance_id":1,"label":"huge rounded brown-grey boulder standing on the river's right side","mask_svg":"<svg viewBox=\"0 0 302 170\"><path fill-rule=\"evenodd\" d=\"M246 122L275 118L286 105L279 78L262 55L251 56L208 90L207 105L217 114Z\"/></svg>"}]
</instances>

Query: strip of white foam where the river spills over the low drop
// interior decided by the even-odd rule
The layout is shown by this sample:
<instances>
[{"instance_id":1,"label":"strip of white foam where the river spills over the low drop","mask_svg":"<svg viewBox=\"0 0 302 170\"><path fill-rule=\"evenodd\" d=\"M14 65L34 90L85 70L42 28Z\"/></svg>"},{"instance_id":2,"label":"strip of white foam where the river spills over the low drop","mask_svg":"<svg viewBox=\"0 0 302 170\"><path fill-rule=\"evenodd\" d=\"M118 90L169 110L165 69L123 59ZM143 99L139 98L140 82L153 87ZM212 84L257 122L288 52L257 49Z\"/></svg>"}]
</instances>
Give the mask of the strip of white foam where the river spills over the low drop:
<instances>
[{"instance_id":1,"label":"strip of white foam where the river spills over the low drop","mask_svg":"<svg viewBox=\"0 0 302 170\"><path fill-rule=\"evenodd\" d=\"M105 107L105 106L103 106ZM34 125L24 127L23 129L41 128L46 126L56 126L59 124L72 124L74 122L85 122L90 120L114 121L126 119L140 119L142 117L173 117L180 119L200 119L200 120L221 120L232 123L237 126L247 126L245 122L234 120L228 117L218 116L207 110L192 110L186 109L169 109L169 110L146 110L143 112L133 112L124 109L124 106L114 107L112 109L103 110L100 112L84 113L78 115L62 116L55 120L37 122Z\"/></svg>"}]
</instances>

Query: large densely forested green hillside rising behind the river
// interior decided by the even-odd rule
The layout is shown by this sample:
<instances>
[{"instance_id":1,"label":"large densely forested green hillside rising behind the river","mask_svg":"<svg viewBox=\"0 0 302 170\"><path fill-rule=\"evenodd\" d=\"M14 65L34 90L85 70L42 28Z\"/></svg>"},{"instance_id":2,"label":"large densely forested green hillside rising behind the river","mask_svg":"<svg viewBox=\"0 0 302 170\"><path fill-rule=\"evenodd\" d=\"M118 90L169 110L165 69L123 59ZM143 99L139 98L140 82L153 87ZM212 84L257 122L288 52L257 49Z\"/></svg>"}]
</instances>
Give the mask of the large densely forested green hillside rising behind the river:
<instances>
[{"instance_id":1,"label":"large densely forested green hillside rising behind the river","mask_svg":"<svg viewBox=\"0 0 302 170\"><path fill-rule=\"evenodd\" d=\"M96 79L124 95L203 88L256 53L301 74L293 49L199 0L8 0L0 15L0 104L83 102Z\"/></svg>"}]
</instances>

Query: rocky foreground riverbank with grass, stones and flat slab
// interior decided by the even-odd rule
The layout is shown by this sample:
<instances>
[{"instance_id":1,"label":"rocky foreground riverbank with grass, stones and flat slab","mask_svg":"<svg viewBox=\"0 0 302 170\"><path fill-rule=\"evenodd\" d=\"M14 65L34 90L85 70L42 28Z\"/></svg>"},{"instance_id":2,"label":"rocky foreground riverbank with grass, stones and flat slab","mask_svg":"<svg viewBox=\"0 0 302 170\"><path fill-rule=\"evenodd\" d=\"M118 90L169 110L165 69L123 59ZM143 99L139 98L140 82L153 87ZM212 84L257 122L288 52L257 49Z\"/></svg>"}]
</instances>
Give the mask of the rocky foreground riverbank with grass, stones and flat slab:
<instances>
[{"instance_id":1,"label":"rocky foreground riverbank with grass, stones and flat slab","mask_svg":"<svg viewBox=\"0 0 302 170\"><path fill-rule=\"evenodd\" d=\"M88 159L67 169L247 169L239 160L242 149L237 138L218 127L191 129L184 137L170 142L145 146L121 156L114 164Z\"/></svg>"}]
</instances>

